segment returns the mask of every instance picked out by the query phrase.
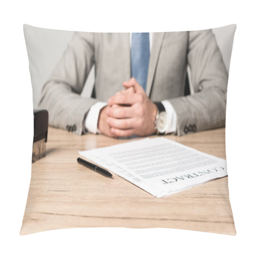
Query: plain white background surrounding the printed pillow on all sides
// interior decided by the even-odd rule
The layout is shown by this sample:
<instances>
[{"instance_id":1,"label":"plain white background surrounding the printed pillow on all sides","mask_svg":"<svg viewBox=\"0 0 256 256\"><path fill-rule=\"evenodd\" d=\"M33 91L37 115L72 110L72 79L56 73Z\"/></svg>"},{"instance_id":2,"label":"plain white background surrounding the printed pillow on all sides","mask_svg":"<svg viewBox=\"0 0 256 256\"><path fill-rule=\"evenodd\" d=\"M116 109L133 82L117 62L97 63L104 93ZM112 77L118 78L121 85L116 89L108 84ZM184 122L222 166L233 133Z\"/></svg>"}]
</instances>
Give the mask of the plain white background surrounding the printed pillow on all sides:
<instances>
[{"instance_id":1,"label":"plain white background surrounding the printed pillow on all sides","mask_svg":"<svg viewBox=\"0 0 256 256\"><path fill-rule=\"evenodd\" d=\"M92 4L73 0L66 4L44 0L1 4L1 255L255 255L253 1L153 3L137 0ZM23 23L92 32L197 30L236 23L228 81L226 142L230 202L237 235L160 228L76 228L20 236L33 140L32 87Z\"/></svg>"}]
</instances>

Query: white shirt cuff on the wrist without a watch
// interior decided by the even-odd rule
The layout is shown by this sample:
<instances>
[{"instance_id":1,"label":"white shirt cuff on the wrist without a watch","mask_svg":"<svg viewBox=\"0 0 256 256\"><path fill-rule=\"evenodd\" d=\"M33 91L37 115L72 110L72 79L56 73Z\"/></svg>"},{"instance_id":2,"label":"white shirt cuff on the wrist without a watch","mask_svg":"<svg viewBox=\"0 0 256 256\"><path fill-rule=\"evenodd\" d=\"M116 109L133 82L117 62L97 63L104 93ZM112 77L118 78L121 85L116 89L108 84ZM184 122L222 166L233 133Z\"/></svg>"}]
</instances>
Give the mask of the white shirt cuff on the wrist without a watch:
<instances>
[{"instance_id":1,"label":"white shirt cuff on the wrist without a watch","mask_svg":"<svg viewBox=\"0 0 256 256\"><path fill-rule=\"evenodd\" d=\"M96 134L97 132L100 133L98 129L98 119L100 114L100 109L107 106L107 102L96 102L92 107L90 108L86 119L85 119L85 128L91 132Z\"/></svg>"}]
</instances>

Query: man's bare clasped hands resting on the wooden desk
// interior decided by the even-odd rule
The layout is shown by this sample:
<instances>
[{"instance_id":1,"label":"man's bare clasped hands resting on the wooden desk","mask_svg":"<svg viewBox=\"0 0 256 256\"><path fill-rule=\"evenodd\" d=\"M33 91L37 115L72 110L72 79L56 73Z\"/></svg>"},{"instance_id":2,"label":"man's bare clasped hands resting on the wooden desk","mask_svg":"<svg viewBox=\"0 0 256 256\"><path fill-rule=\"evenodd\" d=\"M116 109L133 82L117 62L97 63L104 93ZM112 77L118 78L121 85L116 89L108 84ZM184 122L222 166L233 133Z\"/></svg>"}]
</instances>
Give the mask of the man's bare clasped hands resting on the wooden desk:
<instances>
[{"instance_id":1,"label":"man's bare clasped hands resting on the wooden desk","mask_svg":"<svg viewBox=\"0 0 256 256\"><path fill-rule=\"evenodd\" d=\"M110 137L148 136L156 132L156 105L135 78L123 83L125 89L108 99L100 110L98 128Z\"/></svg>"}]
</instances>

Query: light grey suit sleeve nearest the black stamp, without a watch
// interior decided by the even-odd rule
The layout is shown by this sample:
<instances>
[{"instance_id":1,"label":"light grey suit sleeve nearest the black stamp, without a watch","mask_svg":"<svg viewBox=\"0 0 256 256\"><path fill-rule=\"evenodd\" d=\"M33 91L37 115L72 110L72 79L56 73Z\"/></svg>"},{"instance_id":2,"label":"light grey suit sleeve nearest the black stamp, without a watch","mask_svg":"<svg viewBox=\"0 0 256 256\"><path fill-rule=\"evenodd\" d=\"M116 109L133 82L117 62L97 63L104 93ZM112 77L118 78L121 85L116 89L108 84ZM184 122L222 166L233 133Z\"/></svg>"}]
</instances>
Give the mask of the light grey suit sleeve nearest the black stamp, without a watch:
<instances>
[{"instance_id":1,"label":"light grey suit sleeve nearest the black stamp, without a watch","mask_svg":"<svg viewBox=\"0 0 256 256\"><path fill-rule=\"evenodd\" d=\"M38 107L48 110L50 125L76 127L76 134L85 131L86 113L97 100L80 94L93 63L94 34L75 32L41 92Z\"/></svg>"}]
</instances>

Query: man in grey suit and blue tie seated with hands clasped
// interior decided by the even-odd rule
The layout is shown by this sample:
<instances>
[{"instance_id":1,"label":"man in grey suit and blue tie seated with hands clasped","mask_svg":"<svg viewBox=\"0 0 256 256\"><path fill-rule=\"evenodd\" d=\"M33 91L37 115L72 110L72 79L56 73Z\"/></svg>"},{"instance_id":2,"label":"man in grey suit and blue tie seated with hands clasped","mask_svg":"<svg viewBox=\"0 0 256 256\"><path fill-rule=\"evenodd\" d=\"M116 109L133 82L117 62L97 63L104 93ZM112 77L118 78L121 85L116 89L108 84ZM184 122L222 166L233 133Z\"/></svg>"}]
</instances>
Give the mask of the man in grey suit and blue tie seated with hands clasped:
<instances>
[{"instance_id":1,"label":"man in grey suit and blue tie seated with hands clasped","mask_svg":"<svg viewBox=\"0 0 256 256\"><path fill-rule=\"evenodd\" d=\"M95 64L91 98L80 96ZM184 96L187 66L194 93ZM77 134L183 135L225 126L228 74L212 30L75 32L44 84L49 124Z\"/></svg>"}]
</instances>

